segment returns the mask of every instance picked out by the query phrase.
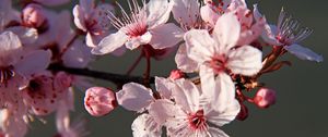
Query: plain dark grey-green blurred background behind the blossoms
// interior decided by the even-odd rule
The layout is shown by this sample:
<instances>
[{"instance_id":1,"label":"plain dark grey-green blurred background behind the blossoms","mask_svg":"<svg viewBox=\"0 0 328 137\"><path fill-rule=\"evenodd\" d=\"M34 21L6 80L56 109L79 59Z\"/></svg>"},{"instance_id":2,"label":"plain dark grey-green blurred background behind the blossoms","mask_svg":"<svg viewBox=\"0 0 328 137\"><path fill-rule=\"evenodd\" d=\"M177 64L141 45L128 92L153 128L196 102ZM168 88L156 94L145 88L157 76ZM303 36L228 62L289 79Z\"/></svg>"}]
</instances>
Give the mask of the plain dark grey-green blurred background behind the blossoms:
<instances>
[{"instance_id":1,"label":"plain dark grey-green blurred background behind the blossoms","mask_svg":"<svg viewBox=\"0 0 328 137\"><path fill-rule=\"evenodd\" d=\"M72 9L78 0L66 7ZM114 2L106 1L106 2ZM117 0L122 5L126 0ZM276 24L281 8L283 7L304 26L312 27L314 34L301 42L328 57L328 17L326 0L247 0L248 7L259 3L260 11L267 20ZM109 21L108 21L109 22ZM94 70L125 73L139 55L139 51L127 52L122 58L106 55L91 64ZM222 127L232 137L328 137L328 63L302 61L286 54L283 59L292 61L291 67L286 66L278 72L265 75L261 82L267 87L277 90L278 100L269 109L261 110L248 104L249 117L246 121L234 121ZM144 62L133 72L142 75ZM152 61L152 75L168 76L171 70L176 68L174 54L162 61ZM96 82L95 85L113 87L107 82ZM90 137L130 137L132 136L131 123L136 116L121 108L116 109L104 117L90 116L83 107L83 91L75 91L75 112L72 121L79 116L87 120ZM31 125L28 137L51 137L56 134L52 116L45 117L47 124L34 122Z\"/></svg>"}]
</instances>

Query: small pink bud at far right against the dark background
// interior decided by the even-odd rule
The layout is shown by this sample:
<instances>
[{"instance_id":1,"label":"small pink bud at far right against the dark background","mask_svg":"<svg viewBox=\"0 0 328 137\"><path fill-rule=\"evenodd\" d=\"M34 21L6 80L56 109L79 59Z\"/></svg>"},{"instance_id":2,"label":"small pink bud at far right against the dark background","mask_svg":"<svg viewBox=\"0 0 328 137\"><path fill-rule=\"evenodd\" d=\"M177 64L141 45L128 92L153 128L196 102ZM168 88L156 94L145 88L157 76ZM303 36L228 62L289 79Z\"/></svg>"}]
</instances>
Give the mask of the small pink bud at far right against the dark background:
<instances>
[{"instance_id":1,"label":"small pink bud at far right against the dark background","mask_svg":"<svg viewBox=\"0 0 328 137\"><path fill-rule=\"evenodd\" d=\"M254 98L254 103L259 108L269 108L276 103L276 91L269 88L260 88Z\"/></svg>"}]
</instances>

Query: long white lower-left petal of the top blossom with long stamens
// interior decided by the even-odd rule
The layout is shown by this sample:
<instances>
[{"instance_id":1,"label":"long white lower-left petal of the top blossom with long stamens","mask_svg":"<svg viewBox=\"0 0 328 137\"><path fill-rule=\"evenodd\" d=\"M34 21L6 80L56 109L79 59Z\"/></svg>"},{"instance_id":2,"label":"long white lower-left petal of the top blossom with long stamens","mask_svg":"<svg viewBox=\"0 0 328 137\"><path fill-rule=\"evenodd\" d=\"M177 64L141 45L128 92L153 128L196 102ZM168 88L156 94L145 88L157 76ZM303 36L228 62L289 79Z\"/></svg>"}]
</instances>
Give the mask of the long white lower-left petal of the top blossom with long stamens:
<instances>
[{"instance_id":1,"label":"long white lower-left petal of the top blossom with long stamens","mask_svg":"<svg viewBox=\"0 0 328 137\"><path fill-rule=\"evenodd\" d=\"M93 54L106 54L122 47L122 45L127 40L128 40L128 36L124 32L118 30L116 34L108 35L103 40L101 40L98 46L92 49L91 52Z\"/></svg>"}]
</instances>

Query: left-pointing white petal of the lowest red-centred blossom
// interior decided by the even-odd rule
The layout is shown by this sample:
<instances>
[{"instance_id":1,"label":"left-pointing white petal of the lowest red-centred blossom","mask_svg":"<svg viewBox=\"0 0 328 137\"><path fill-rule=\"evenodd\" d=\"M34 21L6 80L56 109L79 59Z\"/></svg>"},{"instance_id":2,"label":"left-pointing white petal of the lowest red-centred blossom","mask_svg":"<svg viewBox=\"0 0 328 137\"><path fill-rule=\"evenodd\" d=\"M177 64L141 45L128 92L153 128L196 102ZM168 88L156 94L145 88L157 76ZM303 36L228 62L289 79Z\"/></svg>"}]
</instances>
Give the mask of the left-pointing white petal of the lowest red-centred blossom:
<instances>
[{"instance_id":1,"label":"left-pointing white petal of the lowest red-centred blossom","mask_svg":"<svg viewBox=\"0 0 328 137\"><path fill-rule=\"evenodd\" d=\"M176 103L167 99L160 99L151 103L149 113L160 125L163 125L167 121L175 121L175 119L184 119L184 116L187 116Z\"/></svg>"}]
</instances>

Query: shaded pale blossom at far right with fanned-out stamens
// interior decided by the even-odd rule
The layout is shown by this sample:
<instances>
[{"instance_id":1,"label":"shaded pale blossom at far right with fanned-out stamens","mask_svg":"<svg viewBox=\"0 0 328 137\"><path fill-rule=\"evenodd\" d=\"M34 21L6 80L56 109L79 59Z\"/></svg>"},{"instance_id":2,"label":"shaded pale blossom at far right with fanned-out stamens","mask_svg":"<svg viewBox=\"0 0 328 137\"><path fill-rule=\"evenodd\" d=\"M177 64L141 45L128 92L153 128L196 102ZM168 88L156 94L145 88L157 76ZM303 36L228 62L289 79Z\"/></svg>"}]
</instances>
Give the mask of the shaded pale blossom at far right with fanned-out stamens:
<instances>
[{"instance_id":1,"label":"shaded pale blossom at far right with fanned-out stamens","mask_svg":"<svg viewBox=\"0 0 328 137\"><path fill-rule=\"evenodd\" d=\"M262 15L255 5L256 18L260 20ZM270 45L282 46L283 49L296 55L298 59L321 62L324 58L311 49L300 46L297 42L304 40L313 33L308 27L301 27L300 21L289 15L284 9L281 10L278 24L266 24L262 38Z\"/></svg>"}]
</instances>

